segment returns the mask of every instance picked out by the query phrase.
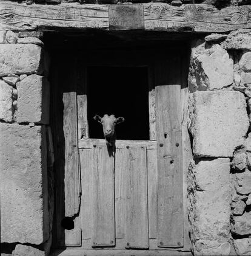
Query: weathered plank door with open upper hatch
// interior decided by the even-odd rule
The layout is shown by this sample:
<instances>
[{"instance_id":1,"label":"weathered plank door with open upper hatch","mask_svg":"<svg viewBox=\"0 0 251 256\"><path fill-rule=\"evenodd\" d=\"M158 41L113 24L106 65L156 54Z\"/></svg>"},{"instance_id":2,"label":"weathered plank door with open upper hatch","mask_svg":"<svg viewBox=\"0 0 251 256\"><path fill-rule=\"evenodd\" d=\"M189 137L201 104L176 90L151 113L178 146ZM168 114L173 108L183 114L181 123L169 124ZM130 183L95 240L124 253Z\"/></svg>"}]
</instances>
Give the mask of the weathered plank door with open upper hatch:
<instances>
[{"instance_id":1,"label":"weathered plank door with open upper hatch","mask_svg":"<svg viewBox=\"0 0 251 256\"><path fill-rule=\"evenodd\" d=\"M65 159L57 164L64 170L56 189L56 198L64 198L56 199L58 243L83 249L186 247L182 152L188 136L182 123L186 86L181 55L139 58L149 65L150 139L116 140L112 155L104 140L89 138L84 70L90 63L70 59L76 72L61 81L56 107L61 106L62 117L55 129L62 123L58 138L64 135L64 141L56 143L63 144L58 154ZM65 217L73 221L73 228L62 227Z\"/></svg>"}]
</instances>

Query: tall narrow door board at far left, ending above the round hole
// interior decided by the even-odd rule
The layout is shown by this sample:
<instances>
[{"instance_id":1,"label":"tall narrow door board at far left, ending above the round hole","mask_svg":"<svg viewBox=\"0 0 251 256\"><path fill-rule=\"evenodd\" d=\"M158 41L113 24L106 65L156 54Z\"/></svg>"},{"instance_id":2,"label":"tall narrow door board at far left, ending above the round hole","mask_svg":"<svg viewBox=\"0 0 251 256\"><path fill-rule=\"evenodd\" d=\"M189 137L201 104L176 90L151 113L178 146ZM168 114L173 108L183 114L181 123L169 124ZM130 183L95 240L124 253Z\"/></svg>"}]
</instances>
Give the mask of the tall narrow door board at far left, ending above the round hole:
<instances>
[{"instance_id":1,"label":"tall narrow door board at far left, ending above the round hole","mask_svg":"<svg viewBox=\"0 0 251 256\"><path fill-rule=\"evenodd\" d=\"M76 92L63 93L65 139L65 216L73 217L80 207Z\"/></svg>"}]
</instances>

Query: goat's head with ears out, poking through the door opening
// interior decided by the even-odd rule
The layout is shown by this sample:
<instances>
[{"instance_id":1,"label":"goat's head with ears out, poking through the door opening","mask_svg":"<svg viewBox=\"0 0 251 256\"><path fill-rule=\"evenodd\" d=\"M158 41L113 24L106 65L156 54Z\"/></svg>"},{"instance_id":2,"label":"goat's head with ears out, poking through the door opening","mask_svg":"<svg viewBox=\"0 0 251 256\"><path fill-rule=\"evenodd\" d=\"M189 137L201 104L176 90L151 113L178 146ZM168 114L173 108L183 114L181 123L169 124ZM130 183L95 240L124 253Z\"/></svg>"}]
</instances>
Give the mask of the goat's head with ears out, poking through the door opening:
<instances>
[{"instance_id":1,"label":"goat's head with ears out, poking through the door opening","mask_svg":"<svg viewBox=\"0 0 251 256\"><path fill-rule=\"evenodd\" d=\"M124 122L124 117L116 118L114 115L108 116L105 114L102 118L98 115L95 115L93 119L102 124L107 147L113 147L116 140L115 126L118 123Z\"/></svg>"}]
</instances>

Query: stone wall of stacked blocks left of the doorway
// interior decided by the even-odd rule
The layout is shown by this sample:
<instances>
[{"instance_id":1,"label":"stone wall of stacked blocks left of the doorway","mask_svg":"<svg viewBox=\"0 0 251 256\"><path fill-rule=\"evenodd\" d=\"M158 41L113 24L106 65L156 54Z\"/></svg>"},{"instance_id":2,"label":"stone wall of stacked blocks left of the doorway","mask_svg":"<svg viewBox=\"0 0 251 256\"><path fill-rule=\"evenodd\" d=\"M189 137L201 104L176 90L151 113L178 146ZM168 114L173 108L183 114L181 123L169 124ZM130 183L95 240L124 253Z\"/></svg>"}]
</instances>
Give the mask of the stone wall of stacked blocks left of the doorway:
<instances>
[{"instance_id":1,"label":"stone wall of stacked blocks left of the doorway","mask_svg":"<svg viewBox=\"0 0 251 256\"><path fill-rule=\"evenodd\" d=\"M41 36L0 32L1 255L46 255L52 239L50 88Z\"/></svg>"}]
</instances>

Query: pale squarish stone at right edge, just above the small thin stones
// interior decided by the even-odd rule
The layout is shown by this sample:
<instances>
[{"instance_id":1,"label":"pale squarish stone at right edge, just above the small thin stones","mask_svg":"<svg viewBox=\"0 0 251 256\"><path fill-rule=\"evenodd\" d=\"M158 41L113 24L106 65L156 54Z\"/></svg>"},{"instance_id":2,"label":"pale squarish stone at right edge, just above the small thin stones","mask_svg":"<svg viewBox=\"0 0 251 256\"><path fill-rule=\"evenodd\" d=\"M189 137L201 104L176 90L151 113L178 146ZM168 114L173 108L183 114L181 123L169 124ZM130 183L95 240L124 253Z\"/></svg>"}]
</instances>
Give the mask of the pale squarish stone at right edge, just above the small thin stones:
<instances>
[{"instance_id":1,"label":"pale squarish stone at right edge, just above the small thin stones","mask_svg":"<svg viewBox=\"0 0 251 256\"><path fill-rule=\"evenodd\" d=\"M251 171L245 170L242 173L235 173L235 189L238 194L248 195L251 193Z\"/></svg>"}]
</instances>

